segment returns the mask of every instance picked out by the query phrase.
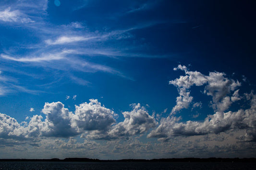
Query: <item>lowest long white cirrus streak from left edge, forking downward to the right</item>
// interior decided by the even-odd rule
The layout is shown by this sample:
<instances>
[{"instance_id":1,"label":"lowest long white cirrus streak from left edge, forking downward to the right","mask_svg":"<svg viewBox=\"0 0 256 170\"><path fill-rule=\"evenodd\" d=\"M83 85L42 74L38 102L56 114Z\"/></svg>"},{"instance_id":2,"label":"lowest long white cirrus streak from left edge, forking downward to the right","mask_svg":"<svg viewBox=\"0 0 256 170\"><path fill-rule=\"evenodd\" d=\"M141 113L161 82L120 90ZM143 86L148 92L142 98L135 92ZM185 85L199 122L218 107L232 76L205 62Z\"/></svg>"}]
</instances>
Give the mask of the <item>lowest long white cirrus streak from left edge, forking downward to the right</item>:
<instances>
[{"instance_id":1,"label":"lowest long white cirrus streak from left edge, forking downward to the right","mask_svg":"<svg viewBox=\"0 0 256 170\"><path fill-rule=\"evenodd\" d=\"M65 76L68 75L70 80L73 80L73 83L77 83L79 85L88 85L89 82L71 74L70 70L88 73L101 71L130 79L118 70L115 70L109 66L87 62L85 58L76 55L79 53L80 52L76 50L63 49L61 52L49 51L48 53L40 54L41 56L39 57L37 56L37 54L32 54L31 56L16 58L3 53L0 54L0 57L3 59L3 62L16 61L27 64L24 66L34 66L64 71ZM51 73L52 72L50 72L49 74Z\"/></svg>"}]
</instances>

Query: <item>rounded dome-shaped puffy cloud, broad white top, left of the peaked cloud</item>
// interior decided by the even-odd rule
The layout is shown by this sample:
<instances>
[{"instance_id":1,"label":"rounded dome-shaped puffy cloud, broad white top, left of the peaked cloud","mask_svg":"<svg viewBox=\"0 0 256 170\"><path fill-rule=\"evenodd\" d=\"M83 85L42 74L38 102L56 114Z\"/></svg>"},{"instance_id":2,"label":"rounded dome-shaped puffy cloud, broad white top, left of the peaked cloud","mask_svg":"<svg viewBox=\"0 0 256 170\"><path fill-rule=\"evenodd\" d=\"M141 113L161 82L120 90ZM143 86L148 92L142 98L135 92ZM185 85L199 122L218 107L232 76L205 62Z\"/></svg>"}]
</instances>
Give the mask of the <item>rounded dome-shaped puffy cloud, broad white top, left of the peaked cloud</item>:
<instances>
[{"instance_id":1,"label":"rounded dome-shaped puffy cloud, broad white top, left of the peaked cloud","mask_svg":"<svg viewBox=\"0 0 256 170\"><path fill-rule=\"evenodd\" d=\"M72 126L80 130L107 130L115 122L114 112L101 106L97 99L75 106Z\"/></svg>"}]
</instances>

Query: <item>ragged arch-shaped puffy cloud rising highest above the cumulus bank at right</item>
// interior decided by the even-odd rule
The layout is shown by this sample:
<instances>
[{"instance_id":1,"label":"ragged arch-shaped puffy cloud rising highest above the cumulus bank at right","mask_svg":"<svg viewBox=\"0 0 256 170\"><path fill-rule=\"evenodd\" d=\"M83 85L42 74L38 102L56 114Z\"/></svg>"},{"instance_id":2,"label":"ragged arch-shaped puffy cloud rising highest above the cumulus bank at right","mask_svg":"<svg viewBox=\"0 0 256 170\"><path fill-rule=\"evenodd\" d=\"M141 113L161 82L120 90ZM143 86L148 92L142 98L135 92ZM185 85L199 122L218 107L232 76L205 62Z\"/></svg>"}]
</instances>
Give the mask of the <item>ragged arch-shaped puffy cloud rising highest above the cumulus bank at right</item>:
<instances>
[{"instance_id":1,"label":"ragged arch-shaped puffy cloud rising highest above the cumulus bank at right","mask_svg":"<svg viewBox=\"0 0 256 170\"><path fill-rule=\"evenodd\" d=\"M232 96L233 98L227 95L241 84L239 81L226 78L224 73L210 72L207 76L197 71L189 71L186 66L182 65L178 65L173 70L178 69L183 70L186 75L169 82L169 84L175 85L178 88L180 95L176 98L176 105L172 108L171 114L176 114L181 109L189 107L193 100L189 89L193 85L206 85L204 93L207 96L212 96L211 104L215 111L223 112L231 106L232 102L238 100L238 91Z\"/></svg>"}]
</instances>

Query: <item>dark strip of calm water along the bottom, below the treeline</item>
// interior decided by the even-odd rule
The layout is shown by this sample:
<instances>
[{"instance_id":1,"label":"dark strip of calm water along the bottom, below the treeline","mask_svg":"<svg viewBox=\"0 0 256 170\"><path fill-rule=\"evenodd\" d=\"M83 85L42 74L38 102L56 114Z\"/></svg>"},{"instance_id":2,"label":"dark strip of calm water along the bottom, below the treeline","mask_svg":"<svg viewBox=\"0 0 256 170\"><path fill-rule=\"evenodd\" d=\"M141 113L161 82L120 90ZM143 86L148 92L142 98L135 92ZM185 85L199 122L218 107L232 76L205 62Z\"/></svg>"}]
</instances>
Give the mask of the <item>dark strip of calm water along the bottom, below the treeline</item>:
<instances>
[{"instance_id":1,"label":"dark strip of calm water along the bottom, below the treeline","mask_svg":"<svg viewBox=\"0 0 256 170\"><path fill-rule=\"evenodd\" d=\"M0 162L0 170L256 170L241 162Z\"/></svg>"}]
</instances>

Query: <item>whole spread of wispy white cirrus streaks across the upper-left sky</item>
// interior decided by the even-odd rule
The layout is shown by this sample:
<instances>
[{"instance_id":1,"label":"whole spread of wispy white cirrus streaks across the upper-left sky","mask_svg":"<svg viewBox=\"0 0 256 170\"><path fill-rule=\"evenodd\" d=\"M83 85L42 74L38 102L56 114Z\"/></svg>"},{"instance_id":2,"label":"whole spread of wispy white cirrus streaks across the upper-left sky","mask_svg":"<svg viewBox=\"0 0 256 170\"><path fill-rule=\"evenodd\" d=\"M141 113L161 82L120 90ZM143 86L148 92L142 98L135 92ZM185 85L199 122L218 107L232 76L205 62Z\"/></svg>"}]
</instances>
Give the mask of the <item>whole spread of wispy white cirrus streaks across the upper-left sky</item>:
<instances>
[{"instance_id":1,"label":"whole spread of wispy white cirrus streaks across the upper-left sky","mask_svg":"<svg viewBox=\"0 0 256 170\"><path fill-rule=\"evenodd\" d=\"M33 34L35 35L33 38L37 39L36 42L31 37L32 41L28 40L27 43L18 43L18 45L15 44L11 48L4 48L0 54L0 60L7 63L5 66L9 67L6 68L7 72L11 72L13 66L9 63L13 62L17 67L13 68L12 73L31 74L26 73L25 69L18 69L18 63L22 63L23 68L36 67L47 68L47 70L52 71L57 70L61 74L66 74L70 82L88 85L90 84L88 80L70 72L104 72L134 80L129 75L125 75L122 71L115 69L114 66L99 63L98 59L94 60L91 56L107 56L112 58L167 56L131 52L131 49L139 47L122 42L122 40L132 40L134 38L133 31L151 27L163 23L163 21L149 21L119 29L98 28L98 30L91 28L85 22L78 21L56 25L45 20L48 3L48 0L32 0L30 2L14 0L8 5L2 3L0 11L3 17L0 20L19 22L22 23L20 25L23 28L17 29L37 32ZM27 20L25 21L25 19ZM37 77L36 74L33 74L33 77ZM44 75L44 77L47 77L47 75ZM56 82L55 80L51 81ZM18 82L13 85L12 87L16 90L20 89L23 92L34 93L34 90L29 91L27 89L26 86L29 85L21 85Z\"/></svg>"}]
</instances>

